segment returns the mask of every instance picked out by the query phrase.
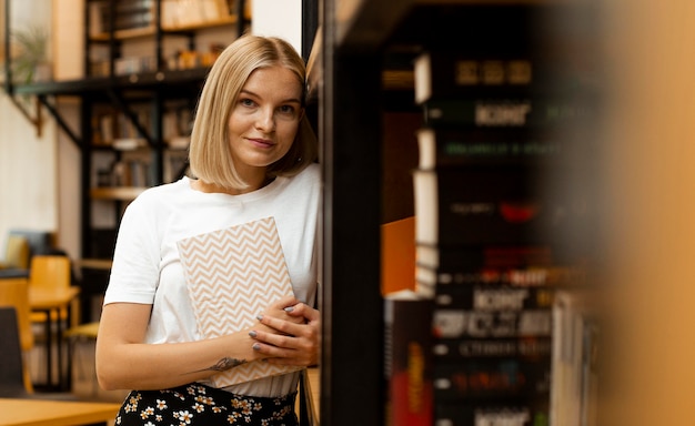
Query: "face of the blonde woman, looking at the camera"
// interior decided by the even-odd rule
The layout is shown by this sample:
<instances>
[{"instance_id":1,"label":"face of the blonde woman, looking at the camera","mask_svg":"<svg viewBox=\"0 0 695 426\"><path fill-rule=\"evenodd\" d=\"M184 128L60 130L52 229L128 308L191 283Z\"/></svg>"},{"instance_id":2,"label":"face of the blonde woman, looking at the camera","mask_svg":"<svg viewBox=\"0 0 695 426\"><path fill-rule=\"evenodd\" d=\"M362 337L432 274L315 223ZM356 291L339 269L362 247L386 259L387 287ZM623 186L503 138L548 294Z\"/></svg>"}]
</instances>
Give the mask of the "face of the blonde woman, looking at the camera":
<instances>
[{"instance_id":1,"label":"face of the blonde woman, looking at the camera","mask_svg":"<svg viewBox=\"0 0 695 426\"><path fill-rule=\"evenodd\" d=\"M264 169L288 153L303 109L296 75L282 67L251 73L232 106L228 130L236 170L244 175Z\"/></svg>"}]
</instances>

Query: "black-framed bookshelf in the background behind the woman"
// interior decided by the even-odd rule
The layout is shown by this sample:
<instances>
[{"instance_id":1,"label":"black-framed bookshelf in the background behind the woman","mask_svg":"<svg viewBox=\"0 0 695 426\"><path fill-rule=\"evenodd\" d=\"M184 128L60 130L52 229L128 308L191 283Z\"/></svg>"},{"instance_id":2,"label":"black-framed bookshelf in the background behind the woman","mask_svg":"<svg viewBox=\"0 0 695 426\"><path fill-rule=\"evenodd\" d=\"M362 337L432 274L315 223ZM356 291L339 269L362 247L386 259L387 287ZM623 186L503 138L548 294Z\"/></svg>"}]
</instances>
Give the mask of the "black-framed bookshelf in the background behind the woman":
<instances>
[{"instance_id":1,"label":"black-framed bookshelf in the background behind the woman","mask_svg":"<svg viewBox=\"0 0 695 426\"><path fill-rule=\"evenodd\" d=\"M14 1L4 2L6 16ZM184 4L198 11L185 13L188 21L173 13ZM100 261L112 255L124 207L184 172L189 125L214 49L246 30L250 8L244 0L85 0L83 22L83 78L8 79L4 90L36 98L80 150L79 256ZM9 24L4 31L9 39ZM63 116L62 100L78 100L79 120ZM84 268L83 278L99 294L108 270Z\"/></svg>"}]
</instances>

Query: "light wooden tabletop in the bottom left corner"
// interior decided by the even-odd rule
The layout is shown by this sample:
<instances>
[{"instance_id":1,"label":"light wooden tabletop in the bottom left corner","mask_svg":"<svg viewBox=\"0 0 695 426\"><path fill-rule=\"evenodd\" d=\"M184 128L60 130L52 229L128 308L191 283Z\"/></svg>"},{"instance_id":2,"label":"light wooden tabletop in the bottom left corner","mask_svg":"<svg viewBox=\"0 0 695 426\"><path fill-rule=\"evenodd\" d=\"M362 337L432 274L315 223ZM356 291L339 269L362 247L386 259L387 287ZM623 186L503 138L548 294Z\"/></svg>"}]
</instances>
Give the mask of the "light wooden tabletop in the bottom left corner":
<instances>
[{"instance_id":1,"label":"light wooden tabletop in the bottom left corner","mask_svg":"<svg viewBox=\"0 0 695 426\"><path fill-rule=\"evenodd\" d=\"M0 426L72 426L105 424L120 404L0 398Z\"/></svg>"}]
</instances>

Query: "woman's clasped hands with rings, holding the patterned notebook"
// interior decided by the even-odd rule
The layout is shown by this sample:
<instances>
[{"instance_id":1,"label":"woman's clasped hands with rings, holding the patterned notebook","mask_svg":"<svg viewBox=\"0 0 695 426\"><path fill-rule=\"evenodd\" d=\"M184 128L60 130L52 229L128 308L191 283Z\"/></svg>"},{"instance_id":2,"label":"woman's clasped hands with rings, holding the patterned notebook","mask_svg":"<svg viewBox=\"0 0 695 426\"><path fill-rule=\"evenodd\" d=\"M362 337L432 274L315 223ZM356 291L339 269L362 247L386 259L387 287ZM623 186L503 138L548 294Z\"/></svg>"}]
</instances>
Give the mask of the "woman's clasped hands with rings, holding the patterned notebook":
<instances>
[{"instance_id":1,"label":"woman's clasped hands with rings, holding the patterned notebook","mask_svg":"<svg viewBox=\"0 0 695 426\"><path fill-rule=\"evenodd\" d=\"M279 312L279 310L281 312ZM253 349L268 363L311 366L319 363L321 313L294 297L285 297L259 317L260 327L249 335ZM269 333L270 327L274 333Z\"/></svg>"}]
</instances>

